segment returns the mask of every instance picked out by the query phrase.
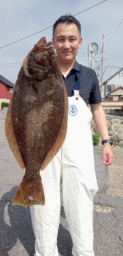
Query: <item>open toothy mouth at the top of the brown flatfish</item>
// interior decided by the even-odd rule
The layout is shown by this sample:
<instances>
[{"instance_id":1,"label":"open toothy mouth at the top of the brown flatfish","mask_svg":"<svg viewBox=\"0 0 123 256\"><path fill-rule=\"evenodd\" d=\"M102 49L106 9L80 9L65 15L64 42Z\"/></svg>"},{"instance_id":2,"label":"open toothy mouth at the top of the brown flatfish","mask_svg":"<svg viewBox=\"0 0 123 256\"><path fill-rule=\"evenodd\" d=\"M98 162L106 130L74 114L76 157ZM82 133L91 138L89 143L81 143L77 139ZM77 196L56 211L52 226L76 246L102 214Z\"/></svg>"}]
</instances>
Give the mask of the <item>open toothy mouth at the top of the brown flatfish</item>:
<instances>
[{"instance_id":1,"label":"open toothy mouth at the top of the brown flatfish","mask_svg":"<svg viewBox=\"0 0 123 256\"><path fill-rule=\"evenodd\" d=\"M44 51L50 47L53 47L52 42L47 42L46 37L41 37L41 39L34 46L35 50Z\"/></svg>"}]
</instances>

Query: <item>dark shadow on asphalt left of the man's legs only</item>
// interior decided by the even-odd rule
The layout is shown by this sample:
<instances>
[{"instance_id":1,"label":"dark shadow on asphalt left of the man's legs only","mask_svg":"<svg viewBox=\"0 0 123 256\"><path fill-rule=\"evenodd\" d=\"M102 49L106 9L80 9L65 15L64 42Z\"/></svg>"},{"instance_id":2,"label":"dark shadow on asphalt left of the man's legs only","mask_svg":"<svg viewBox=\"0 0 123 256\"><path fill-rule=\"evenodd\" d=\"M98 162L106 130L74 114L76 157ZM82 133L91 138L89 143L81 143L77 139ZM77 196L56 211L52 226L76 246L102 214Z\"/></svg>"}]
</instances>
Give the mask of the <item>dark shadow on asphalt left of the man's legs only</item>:
<instances>
[{"instance_id":1,"label":"dark shadow on asphalt left of the man's legs only","mask_svg":"<svg viewBox=\"0 0 123 256\"><path fill-rule=\"evenodd\" d=\"M34 255L35 238L30 209L11 204L16 190L17 186L13 187L11 191L3 195L0 202L0 255L8 256L9 250L16 245L17 239L19 239L28 254L32 256Z\"/></svg>"}]
</instances>

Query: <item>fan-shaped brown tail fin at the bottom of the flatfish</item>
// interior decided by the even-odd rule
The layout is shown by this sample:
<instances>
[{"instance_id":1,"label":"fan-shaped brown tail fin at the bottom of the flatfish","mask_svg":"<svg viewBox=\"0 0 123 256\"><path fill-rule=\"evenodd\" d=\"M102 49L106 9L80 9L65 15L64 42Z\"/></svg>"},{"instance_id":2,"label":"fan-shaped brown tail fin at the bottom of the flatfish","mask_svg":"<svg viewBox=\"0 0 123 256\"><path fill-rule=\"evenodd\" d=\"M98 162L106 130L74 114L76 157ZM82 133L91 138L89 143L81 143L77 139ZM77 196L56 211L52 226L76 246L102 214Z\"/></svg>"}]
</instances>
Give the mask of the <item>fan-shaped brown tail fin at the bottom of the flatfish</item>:
<instances>
[{"instance_id":1,"label":"fan-shaped brown tail fin at the bottom of the flatfish","mask_svg":"<svg viewBox=\"0 0 123 256\"><path fill-rule=\"evenodd\" d=\"M30 207L36 204L45 204L43 185L40 179L29 182L24 177L13 198L12 205L19 204Z\"/></svg>"}]
</instances>

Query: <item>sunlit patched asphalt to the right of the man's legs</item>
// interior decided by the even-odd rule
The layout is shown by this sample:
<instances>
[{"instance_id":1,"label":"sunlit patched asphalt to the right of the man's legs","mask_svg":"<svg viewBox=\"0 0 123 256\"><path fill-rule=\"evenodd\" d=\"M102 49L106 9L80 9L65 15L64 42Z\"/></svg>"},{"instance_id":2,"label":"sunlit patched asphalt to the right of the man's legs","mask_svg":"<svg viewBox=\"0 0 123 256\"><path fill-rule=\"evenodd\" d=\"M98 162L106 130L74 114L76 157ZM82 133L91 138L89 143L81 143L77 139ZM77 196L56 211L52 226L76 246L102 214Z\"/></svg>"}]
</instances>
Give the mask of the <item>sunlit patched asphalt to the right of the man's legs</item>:
<instances>
[{"instance_id":1,"label":"sunlit patched asphalt to the right of the man's legs","mask_svg":"<svg viewBox=\"0 0 123 256\"><path fill-rule=\"evenodd\" d=\"M95 256L123 255L123 149L113 148L114 163L100 168L101 149L94 148L99 192L94 199Z\"/></svg>"}]
</instances>

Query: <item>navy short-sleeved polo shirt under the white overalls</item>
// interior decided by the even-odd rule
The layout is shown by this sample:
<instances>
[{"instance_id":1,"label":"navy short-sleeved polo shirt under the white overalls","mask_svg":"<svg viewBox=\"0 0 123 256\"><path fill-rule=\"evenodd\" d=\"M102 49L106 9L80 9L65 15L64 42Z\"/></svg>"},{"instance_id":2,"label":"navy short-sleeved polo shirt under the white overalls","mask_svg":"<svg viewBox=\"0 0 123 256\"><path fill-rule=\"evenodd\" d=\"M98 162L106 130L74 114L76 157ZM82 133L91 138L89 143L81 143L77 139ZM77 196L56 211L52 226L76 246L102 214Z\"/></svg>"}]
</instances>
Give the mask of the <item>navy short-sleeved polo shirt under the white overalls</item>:
<instances>
[{"instance_id":1,"label":"navy short-sleeved polo shirt under the white overalls","mask_svg":"<svg viewBox=\"0 0 123 256\"><path fill-rule=\"evenodd\" d=\"M77 61L75 61L69 74L65 78L63 76L68 97L71 96L73 86L77 79L76 71L79 70L81 70L81 76L79 78L80 96L84 99L87 105L88 103L95 104L102 102L99 81L95 71L82 65L80 68L80 64Z\"/></svg>"}]
</instances>

